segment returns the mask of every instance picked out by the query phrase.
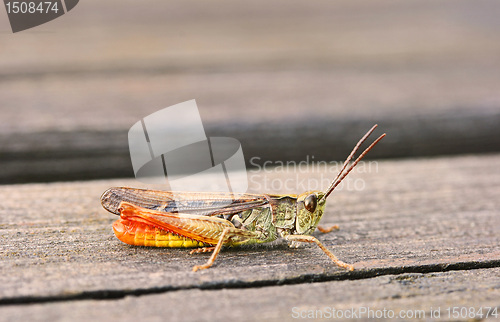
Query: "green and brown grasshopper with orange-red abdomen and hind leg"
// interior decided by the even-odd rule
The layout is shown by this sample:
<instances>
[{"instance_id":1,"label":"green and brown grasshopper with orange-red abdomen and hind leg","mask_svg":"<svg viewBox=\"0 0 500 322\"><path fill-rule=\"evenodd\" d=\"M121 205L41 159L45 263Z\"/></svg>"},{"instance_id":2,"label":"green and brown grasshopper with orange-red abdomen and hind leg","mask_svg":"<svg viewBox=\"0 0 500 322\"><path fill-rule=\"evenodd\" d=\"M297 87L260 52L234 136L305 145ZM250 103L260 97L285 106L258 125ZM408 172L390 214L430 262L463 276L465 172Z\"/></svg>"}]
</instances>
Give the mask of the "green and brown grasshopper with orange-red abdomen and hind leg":
<instances>
[{"instance_id":1,"label":"green and brown grasshopper with orange-red abdomen and hind leg","mask_svg":"<svg viewBox=\"0 0 500 322\"><path fill-rule=\"evenodd\" d=\"M176 192L110 188L101 196L102 206L120 216L113 230L124 243L136 246L186 247L193 253L212 251L209 260L193 271L211 267L222 246L257 244L283 238L294 246L315 243L339 267L353 270L311 236L316 228L329 232L338 226L318 226L326 198L384 136L376 139L351 164L374 125L356 144L342 169L325 192L272 195L218 192ZM175 200L174 200L175 199Z\"/></svg>"}]
</instances>

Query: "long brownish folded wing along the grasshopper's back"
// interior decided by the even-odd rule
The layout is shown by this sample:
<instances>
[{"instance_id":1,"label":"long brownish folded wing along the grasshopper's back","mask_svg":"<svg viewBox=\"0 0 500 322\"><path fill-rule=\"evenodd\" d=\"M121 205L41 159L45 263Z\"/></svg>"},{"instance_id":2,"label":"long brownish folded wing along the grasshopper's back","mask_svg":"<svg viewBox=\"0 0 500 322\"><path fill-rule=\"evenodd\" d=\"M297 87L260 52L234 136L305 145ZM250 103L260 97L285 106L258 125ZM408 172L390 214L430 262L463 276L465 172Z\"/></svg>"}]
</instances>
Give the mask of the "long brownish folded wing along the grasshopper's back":
<instances>
[{"instance_id":1,"label":"long brownish folded wing along the grasshopper's back","mask_svg":"<svg viewBox=\"0 0 500 322\"><path fill-rule=\"evenodd\" d=\"M265 195L224 192L173 192L117 187L106 190L101 204L107 211L120 215L120 203L126 202L150 210L224 216L269 204Z\"/></svg>"}]
</instances>

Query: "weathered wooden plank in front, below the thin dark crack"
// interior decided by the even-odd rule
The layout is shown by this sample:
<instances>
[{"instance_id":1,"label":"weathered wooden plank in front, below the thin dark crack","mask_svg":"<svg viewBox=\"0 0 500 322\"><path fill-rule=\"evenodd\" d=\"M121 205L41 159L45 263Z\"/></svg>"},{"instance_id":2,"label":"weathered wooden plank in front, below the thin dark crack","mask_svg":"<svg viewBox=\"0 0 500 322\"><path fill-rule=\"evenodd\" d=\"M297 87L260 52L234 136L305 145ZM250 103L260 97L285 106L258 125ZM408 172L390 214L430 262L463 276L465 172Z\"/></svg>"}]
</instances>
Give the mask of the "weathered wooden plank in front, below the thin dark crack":
<instances>
[{"instance_id":1,"label":"weathered wooden plank in front, below the thin dark crack","mask_svg":"<svg viewBox=\"0 0 500 322\"><path fill-rule=\"evenodd\" d=\"M181 290L109 301L4 306L0 307L0 319L373 321L377 317L394 317L391 320L497 321L494 315L486 319L486 314L488 308L497 308L490 313L500 314L499 298L500 269L491 268L250 289Z\"/></svg>"}]
</instances>

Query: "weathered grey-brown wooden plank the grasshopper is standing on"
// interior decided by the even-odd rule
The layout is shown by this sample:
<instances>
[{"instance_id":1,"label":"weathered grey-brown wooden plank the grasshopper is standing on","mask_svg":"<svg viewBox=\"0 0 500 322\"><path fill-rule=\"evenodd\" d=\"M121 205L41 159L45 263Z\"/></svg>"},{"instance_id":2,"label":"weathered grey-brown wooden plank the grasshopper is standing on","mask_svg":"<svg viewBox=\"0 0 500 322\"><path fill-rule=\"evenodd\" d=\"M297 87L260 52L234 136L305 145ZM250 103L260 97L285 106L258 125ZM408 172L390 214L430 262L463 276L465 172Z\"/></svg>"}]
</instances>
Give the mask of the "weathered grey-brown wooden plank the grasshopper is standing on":
<instances>
[{"instance_id":1,"label":"weathered grey-brown wooden plank the grasshopper is standing on","mask_svg":"<svg viewBox=\"0 0 500 322\"><path fill-rule=\"evenodd\" d=\"M99 195L133 181L2 186L0 303L495 267L499 160L468 156L359 167L332 195L322 221L341 229L319 236L339 258L354 263L354 272L333 266L315 247L263 245L224 251L214 268L193 273L191 267L208 255L129 247L113 236L116 217L101 209ZM306 190L306 184L326 186L334 175L317 165L307 173L304 167L297 173L278 169L250 172L252 189L273 192L273 184L291 178L274 192Z\"/></svg>"}]
</instances>

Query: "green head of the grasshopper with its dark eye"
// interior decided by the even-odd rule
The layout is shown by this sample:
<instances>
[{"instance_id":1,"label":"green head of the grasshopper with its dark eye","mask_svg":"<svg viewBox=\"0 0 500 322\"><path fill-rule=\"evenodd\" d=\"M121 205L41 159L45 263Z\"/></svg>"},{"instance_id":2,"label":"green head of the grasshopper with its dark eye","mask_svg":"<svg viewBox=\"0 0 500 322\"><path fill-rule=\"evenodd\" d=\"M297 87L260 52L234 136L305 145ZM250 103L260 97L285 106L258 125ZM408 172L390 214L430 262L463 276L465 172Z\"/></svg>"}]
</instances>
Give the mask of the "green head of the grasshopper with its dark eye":
<instances>
[{"instance_id":1,"label":"green head of the grasshopper with its dark eye","mask_svg":"<svg viewBox=\"0 0 500 322\"><path fill-rule=\"evenodd\" d=\"M310 235L318 226L325 210L326 198L321 191L307 191L297 198L295 230L301 235Z\"/></svg>"}]
</instances>

